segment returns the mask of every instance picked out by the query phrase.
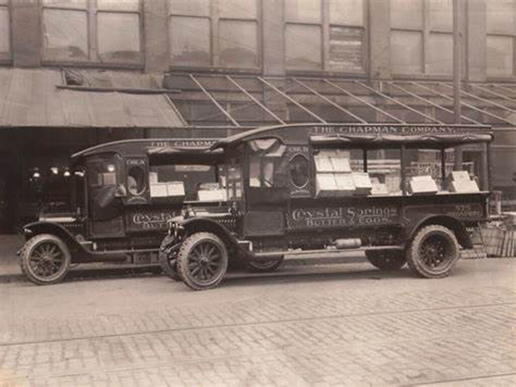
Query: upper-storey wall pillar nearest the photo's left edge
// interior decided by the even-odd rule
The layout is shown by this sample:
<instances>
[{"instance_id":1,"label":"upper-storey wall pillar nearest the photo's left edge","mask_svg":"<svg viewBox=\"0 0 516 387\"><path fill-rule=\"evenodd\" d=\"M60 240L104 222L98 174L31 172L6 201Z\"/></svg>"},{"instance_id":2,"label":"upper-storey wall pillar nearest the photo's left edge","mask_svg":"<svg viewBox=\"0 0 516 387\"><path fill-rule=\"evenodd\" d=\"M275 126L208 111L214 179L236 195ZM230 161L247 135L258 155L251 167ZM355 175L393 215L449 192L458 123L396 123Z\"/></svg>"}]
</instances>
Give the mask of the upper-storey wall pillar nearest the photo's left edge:
<instances>
[{"instance_id":1,"label":"upper-storey wall pillar nearest the photo's left edge","mask_svg":"<svg viewBox=\"0 0 516 387\"><path fill-rule=\"evenodd\" d=\"M10 11L14 66L40 66L43 38L38 0L12 1Z\"/></svg>"}]
</instances>

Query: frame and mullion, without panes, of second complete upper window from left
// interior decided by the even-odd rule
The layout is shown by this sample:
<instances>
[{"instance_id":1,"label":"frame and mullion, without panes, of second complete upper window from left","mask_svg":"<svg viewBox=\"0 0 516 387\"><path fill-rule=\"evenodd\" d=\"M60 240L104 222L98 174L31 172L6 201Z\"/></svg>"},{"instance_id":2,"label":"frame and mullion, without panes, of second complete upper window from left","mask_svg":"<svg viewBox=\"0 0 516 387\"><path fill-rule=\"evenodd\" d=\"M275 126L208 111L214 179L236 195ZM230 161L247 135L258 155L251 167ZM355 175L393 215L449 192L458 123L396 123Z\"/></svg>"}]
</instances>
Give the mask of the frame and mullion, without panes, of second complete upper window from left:
<instances>
[{"instance_id":1,"label":"frame and mullion, without panes, of second complete upper window from left","mask_svg":"<svg viewBox=\"0 0 516 387\"><path fill-rule=\"evenodd\" d=\"M185 14L185 13L174 13L170 10L169 0L167 0L167 49L168 49L168 62L170 70L188 70L188 71L196 71L196 70L220 70L220 71L238 71L241 73L260 73L263 68L263 48L262 48L262 0L254 0L256 2L256 18L236 18L236 17L227 17L221 16L219 2L217 0L208 0L209 3L209 13L208 15L198 15L198 14ZM173 17L176 18L191 18L191 19L207 19L208 20L208 29L209 29L209 65L201 65L195 64L174 64L172 58L172 28L171 28L171 20ZM257 65L253 67L224 67L220 64L220 47L219 47L219 31L220 31L220 21L229 21L229 22L254 22L256 24L256 58Z\"/></svg>"}]
</instances>

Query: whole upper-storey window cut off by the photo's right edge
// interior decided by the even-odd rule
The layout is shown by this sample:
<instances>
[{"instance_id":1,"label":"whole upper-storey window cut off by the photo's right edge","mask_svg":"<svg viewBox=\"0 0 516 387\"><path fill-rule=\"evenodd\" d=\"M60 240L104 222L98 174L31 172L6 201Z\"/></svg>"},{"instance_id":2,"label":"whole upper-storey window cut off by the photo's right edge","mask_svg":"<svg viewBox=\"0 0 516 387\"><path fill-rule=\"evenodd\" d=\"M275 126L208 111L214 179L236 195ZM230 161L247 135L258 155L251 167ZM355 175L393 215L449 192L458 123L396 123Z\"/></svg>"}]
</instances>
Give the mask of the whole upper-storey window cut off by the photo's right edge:
<instances>
[{"instance_id":1,"label":"whole upper-storey window cut off by the photo's right edge","mask_svg":"<svg viewBox=\"0 0 516 387\"><path fill-rule=\"evenodd\" d=\"M516 37L516 2L486 2L487 75L512 76L514 73L514 38Z\"/></svg>"}]
</instances>

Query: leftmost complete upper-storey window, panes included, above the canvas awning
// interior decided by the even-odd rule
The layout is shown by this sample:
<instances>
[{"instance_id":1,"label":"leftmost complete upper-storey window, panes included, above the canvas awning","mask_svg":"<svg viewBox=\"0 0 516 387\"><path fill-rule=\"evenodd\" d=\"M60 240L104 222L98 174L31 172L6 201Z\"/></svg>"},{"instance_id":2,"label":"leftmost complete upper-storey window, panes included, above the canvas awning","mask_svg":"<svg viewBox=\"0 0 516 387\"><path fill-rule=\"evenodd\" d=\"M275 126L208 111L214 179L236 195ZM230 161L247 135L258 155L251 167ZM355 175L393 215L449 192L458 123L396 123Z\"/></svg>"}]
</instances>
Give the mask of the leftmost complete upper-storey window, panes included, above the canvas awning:
<instances>
[{"instance_id":1,"label":"leftmost complete upper-storey window, panes included, above the canvas awning","mask_svg":"<svg viewBox=\"0 0 516 387\"><path fill-rule=\"evenodd\" d=\"M43 59L140 64L139 0L42 0Z\"/></svg>"}]
</instances>

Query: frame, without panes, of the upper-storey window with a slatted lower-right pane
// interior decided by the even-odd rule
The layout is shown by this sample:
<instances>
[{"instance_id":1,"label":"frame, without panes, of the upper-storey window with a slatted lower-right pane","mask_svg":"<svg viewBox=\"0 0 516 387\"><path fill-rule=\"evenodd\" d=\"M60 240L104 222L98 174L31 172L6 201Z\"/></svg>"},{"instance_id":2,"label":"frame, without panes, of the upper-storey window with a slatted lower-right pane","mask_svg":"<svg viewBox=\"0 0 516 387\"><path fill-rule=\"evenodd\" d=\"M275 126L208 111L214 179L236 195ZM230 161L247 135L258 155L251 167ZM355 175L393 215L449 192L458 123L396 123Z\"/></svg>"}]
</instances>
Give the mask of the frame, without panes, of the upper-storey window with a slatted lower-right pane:
<instances>
[{"instance_id":1,"label":"frame, without panes, of the upper-storey window with a slatted lower-right pane","mask_svg":"<svg viewBox=\"0 0 516 387\"><path fill-rule=\"evenodd\" d=\"M283 43L284 43L284 62L285 62L285 71L287 75L303 75L303 74L340 74L340 75L353 75L353 76L367 76L369 74L369 28L368 28L368 1L362 1L362 14L363 14L363 24L362 26L345 24L343 22L332 22L330 19L330 0L320 0L321 6L321 18L320 21L317 22L308 22L308 21L292 21L288 20L285 15L285 20L283 24ZM286 3L283 3L283 7L286 7ZM318 26L321 30L321 68L320 69L293 69L288 68L287 65L287 41L286 41L286 30L288 25L300 25L300 26ZM354 72L351 70L334 70L330 66L330 28L331 27L346 27L346 28L354 28L354 29L362 29L363 30L363 69L361 72Z\"/></svg>"}]
</instances>

